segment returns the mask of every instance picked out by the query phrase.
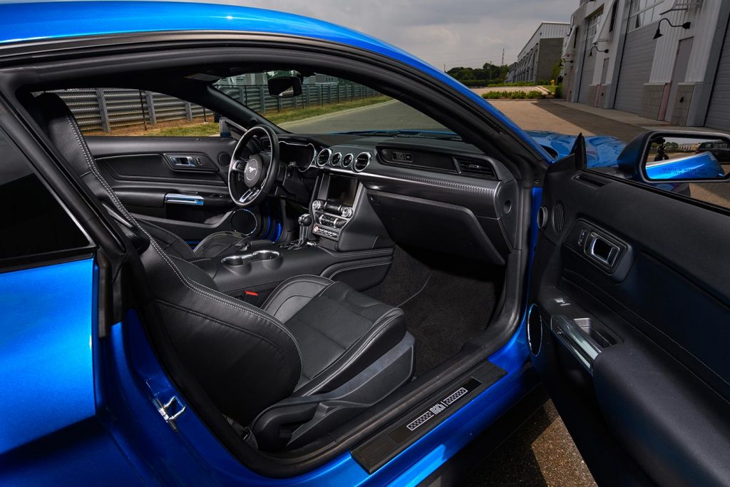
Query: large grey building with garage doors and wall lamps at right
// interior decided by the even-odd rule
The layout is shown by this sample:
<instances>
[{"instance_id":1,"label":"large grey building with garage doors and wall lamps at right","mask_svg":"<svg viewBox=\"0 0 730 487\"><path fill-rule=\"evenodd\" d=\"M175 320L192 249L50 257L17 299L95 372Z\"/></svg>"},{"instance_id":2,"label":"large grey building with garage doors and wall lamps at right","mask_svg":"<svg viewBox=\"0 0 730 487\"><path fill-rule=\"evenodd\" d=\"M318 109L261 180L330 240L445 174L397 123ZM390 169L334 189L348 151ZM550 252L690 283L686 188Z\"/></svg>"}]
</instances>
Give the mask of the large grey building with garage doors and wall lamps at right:
<instances>
[{"instance_id":1,"label":"large grey building with garage doors and wall lamps at right","mask_svg":"<svg viewBox=\"0 0 730 487\"><path fill-rule=\"evenodd\" d=\"M568 101L730 130L730 1L581 0L565 38Z\"/></svg>"}]
</instances>

